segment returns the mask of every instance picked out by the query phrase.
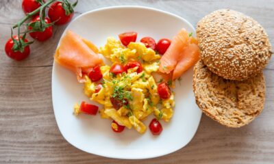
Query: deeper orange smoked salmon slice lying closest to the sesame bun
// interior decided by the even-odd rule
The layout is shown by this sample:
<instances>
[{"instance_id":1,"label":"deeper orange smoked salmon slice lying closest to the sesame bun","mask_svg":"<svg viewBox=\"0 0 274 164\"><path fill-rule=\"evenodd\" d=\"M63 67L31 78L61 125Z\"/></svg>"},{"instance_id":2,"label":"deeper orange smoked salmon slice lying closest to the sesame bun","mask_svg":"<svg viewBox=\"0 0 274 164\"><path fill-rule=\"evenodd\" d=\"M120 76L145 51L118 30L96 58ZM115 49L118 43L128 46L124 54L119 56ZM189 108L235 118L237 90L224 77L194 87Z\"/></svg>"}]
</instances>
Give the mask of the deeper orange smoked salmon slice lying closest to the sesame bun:
<instances>
[{"instance_id":1,"label":"deeper orange smoked salmon slice lying closest to the sesame bun","mask_svg":"<svg viewBox=\"0 0 274 164\"><path fill-rule=\"evenodd\" d=\"M172 79L175 80L180 77L188 68L196 64L199 60L200 49L197 44L189 44L184 51L182 51L182 57L178 61L175 70L173 71Z\"/></svg>"}]
</instances>

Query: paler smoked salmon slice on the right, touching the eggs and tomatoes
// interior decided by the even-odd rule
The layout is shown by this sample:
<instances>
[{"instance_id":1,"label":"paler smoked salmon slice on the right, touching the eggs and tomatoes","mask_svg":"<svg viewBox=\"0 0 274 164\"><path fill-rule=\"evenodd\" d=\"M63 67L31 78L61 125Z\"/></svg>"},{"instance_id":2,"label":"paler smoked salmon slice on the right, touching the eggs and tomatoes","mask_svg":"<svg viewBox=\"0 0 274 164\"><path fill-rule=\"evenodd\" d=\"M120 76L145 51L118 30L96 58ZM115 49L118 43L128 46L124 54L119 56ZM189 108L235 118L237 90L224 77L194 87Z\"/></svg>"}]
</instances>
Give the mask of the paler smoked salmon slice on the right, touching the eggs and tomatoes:
<instances>
[{"instance_id":1,"label":"paler smoked salmon slice on the right, touching the eggs and tomatoes","mask_svg":"<svg viewBox=\"0 0 274 164\"><path fill-rule=\"evenodd\" d=\"M177 65L178 59L181 58L182 51L188 45L188 32L186 29L181 29L179 33L173 38L169 49L166 50L166 53L160 59L160 72L169 74L174 70Z\"/></svg>"}]
</instances>

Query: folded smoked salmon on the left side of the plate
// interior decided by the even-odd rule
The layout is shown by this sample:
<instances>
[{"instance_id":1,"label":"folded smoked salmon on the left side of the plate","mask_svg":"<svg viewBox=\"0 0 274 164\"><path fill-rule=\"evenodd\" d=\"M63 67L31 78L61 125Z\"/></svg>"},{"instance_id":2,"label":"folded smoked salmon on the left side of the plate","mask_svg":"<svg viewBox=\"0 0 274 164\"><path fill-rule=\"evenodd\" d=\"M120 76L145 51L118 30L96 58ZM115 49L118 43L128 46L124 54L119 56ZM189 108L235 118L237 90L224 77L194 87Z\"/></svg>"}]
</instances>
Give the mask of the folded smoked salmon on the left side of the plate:
<instances>
[{"instance_id":1,"label":"folded smoked salmon on the left side of the plate","mask_svg":"<svg viewBox=\"0 0 274 164\"><path fill-rule=\"evenodd\" d=\"M58 64L72 70L80 83L84 82L82 73L103 63L95 44L81 38L73 31L66 31L55 51L54 59Z\"/></svg>"}]
</instances>

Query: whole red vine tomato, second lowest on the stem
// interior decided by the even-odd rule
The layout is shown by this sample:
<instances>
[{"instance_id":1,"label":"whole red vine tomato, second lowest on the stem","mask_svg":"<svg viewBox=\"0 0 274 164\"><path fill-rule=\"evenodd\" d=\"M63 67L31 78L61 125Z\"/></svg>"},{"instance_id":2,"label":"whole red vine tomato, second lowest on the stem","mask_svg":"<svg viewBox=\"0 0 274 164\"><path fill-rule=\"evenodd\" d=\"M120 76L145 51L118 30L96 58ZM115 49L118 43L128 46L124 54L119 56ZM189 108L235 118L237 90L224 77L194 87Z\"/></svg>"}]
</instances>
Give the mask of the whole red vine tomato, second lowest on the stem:
<instances>
[{"instance_id":1,"label":"whole red vine tomato, second lowest on the stem","mask_svg":"<svg viewBox=\"0 0 274 164\"><path fill-rule=\"evenodd\" d=\"M40 16L36 16L32 19L32 22L39 22ZM49 18L45 18L45 23L49 24L51 23L51 20ZM32 27L29 26L29 30L31 30ZM29 36L32 36L32 38L38 40L39 42L44 42L45 40L48 40L52 36L52 26L47 27L45 31L42 32L31 32L29 33Z\"/></svg>"}]
</instances>

